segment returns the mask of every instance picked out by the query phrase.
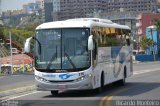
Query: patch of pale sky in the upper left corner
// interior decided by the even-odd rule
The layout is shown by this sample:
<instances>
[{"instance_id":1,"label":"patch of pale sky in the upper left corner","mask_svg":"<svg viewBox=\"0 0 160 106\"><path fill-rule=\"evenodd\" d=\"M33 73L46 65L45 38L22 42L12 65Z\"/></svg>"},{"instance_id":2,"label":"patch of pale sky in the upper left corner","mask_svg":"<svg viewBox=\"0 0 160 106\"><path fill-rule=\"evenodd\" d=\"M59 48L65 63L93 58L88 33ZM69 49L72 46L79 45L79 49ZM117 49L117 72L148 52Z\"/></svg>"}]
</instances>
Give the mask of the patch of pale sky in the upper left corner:
<instances>
[{"instance_id":1,"label":"patch of pale sky in the upper left corner","mask_svg":"<svg viewBox=\"0 0 160 106\"><path fill-rule=\"evenodd\" d=\"M22 9L23 4L35 2L35 0L1 0L1 10L17 10Z\"/></svg>"}]
</instances>

